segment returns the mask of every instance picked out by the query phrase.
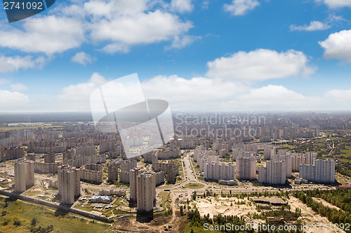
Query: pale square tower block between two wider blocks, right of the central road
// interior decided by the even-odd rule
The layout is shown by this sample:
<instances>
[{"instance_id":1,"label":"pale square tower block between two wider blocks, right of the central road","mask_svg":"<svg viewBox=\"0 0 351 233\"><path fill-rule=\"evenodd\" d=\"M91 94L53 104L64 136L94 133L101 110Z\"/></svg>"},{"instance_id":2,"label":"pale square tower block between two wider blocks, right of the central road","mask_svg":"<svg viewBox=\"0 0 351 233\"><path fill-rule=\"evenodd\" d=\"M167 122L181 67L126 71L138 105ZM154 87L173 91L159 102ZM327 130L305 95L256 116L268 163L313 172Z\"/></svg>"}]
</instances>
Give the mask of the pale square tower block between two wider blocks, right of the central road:
<instances>
[{"instance_id":1,"label":"pale square tower block between two wider blocks, right of the central road","mask_svg":"<svg viewBox=\"0 0 351 233\"><path fill-rule=\"evenodd\" d=\"M256 179L256 157L237 157L237 179Z\"/></svg>"}]
</instances>

